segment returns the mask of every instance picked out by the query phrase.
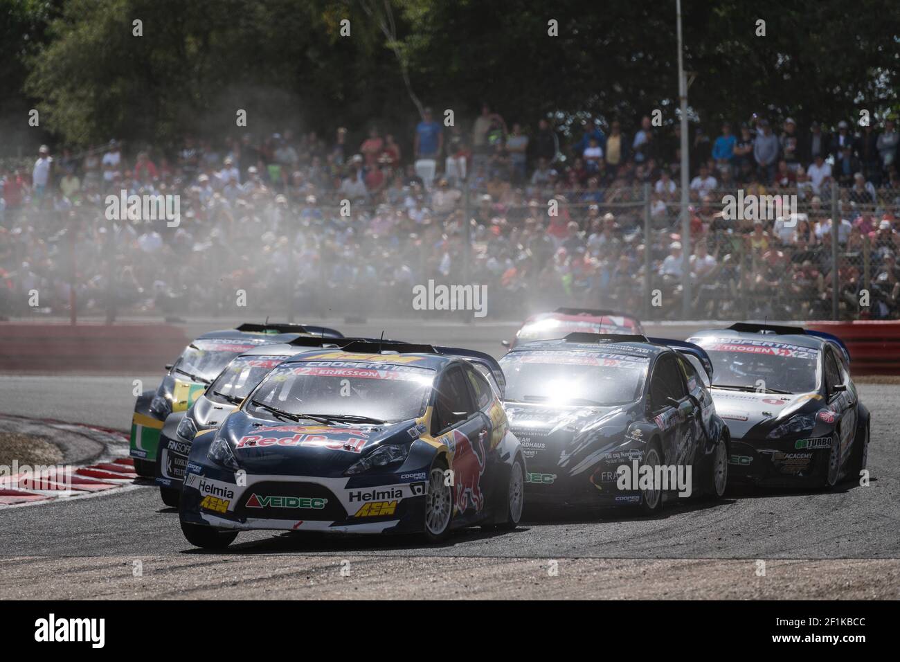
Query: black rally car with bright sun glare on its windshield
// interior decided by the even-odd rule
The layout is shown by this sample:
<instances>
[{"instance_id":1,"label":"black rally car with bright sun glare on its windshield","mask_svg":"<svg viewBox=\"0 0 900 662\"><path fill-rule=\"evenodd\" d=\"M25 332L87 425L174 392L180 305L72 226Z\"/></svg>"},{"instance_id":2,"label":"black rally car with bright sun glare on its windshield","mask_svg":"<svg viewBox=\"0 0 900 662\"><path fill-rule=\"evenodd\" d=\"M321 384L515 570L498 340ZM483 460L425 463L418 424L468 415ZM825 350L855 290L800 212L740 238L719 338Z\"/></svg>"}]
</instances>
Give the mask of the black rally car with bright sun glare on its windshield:
<instances>
[{"instance_id":1,"label":"black rally car with bright sun glare on its windshield","mask_svg":"<svg viewBox=\"0 0 900 662\"><path fill-rule=\"evenodd\" d=\"M528 463L527 503L641 504L721 497L729 434L706 352L642 335L570 333L500 359L504 405Z\"/></svg>"}]
</instances>

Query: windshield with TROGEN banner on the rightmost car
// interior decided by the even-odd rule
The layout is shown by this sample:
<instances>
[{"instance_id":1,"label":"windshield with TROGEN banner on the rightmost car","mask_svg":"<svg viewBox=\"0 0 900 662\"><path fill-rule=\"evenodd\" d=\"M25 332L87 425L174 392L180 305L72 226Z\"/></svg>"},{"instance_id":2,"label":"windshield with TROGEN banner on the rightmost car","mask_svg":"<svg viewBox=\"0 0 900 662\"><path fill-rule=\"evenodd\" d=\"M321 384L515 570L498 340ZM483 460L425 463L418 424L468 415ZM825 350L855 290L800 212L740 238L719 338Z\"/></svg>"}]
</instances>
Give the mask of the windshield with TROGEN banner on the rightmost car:
<instances>
[{"instance_id":1,"label":"windshield with TROGEN banner on the rightmost car","mask_svg":"<svg viewBox=\"0 0 900 662\"><path fill-rule=\"evenodd\" d=\"M713 362L713 387L737 386L776 393L810 393L819 388L819 350L785 342L696 338Z\"/></svg>"}]
</instances>

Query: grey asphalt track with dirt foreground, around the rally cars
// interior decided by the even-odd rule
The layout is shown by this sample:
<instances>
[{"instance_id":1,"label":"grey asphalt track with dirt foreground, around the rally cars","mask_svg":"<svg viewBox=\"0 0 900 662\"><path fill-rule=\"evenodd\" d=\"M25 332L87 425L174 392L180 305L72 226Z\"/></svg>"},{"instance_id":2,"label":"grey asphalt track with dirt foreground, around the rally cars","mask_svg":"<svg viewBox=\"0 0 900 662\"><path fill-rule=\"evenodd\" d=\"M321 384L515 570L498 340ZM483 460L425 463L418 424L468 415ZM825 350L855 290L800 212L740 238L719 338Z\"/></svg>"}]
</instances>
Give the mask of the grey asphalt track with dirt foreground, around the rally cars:
<instances>
[{"instance_id":1,"label":"grey asphalt track with dirt foreground, around the rally cars","mask_svg":"<svg viewBox=\"0 0 900 662\"><path fill-rule=\"evenodd\" d=\"M351 332L372 332L353 330ZM409 340L433 329L405 326ZM439 342L502 353L505 327L442 328ZM126 430L132 380L0 376L0 413ZM415 537L242 533L192 549L150 485L0 509L3 597L900 597L900 385L861 384L871 483L829 494L751 491L635 512L532 512L517 531ZM761 561L765 561L765 574ZM135 569L140 568L138 573Z\"/></svg>"}]
</instances>

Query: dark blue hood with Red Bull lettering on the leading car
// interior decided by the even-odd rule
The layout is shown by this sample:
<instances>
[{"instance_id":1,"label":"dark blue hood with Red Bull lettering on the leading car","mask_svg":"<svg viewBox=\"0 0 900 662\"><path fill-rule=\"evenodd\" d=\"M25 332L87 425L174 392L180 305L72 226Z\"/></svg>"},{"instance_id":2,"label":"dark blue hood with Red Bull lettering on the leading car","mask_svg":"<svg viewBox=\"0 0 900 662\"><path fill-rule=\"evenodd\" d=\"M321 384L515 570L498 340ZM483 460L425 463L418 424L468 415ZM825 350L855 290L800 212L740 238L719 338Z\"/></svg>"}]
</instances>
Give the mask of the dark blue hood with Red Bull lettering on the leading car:
<instances>
[{"instance_id":1,"label":"dark blue hood with Red Bull lettering on the leading car","mask_svg":"<svg viewBox=\"0 0 900 662\"><path fill-rule=\"evenodd\" d=\"M251 474L340 476L385 443L418 439L417 421L384 425L274 422L243 411L217 432L229 441L240 467Z\"/></svg>"}]
</instances>

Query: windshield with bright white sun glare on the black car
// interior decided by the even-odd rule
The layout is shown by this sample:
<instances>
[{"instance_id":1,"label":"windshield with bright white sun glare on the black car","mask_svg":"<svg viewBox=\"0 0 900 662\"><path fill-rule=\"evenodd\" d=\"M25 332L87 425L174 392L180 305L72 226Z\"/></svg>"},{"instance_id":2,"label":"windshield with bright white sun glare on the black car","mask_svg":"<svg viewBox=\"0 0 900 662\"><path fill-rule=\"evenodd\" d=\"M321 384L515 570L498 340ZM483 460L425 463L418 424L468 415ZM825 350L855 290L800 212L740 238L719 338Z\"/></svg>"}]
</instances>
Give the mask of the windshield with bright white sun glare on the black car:
<instances>
[{"instance_id":1,"label":"windshield with bright white sun glare on the black car","mask_svg":"<svg viewBox=\"0 0 900 662\"><path fill-rule=\"evenodd\" d=\"M510 352L500 359L507 402L612 406L640 399L650 361L588 351Z\"/></svg>"}]
</instances>

